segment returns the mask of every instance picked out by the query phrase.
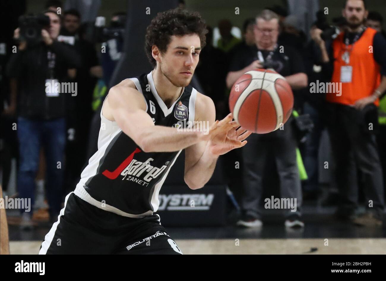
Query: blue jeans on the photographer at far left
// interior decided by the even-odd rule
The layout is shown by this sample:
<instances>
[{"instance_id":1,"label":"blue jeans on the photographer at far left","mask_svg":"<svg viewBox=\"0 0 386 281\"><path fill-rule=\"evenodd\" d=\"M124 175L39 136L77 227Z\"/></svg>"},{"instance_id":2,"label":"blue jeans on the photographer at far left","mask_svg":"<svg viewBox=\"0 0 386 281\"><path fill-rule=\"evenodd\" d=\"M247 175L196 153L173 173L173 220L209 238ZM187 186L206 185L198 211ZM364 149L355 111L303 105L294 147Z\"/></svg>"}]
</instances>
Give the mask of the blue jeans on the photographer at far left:
<instances>
[{"instance_id":1,"label":"blue jeans on the photographer at far left","mask_svg":"<svg viewBox=\"0 0 386 281\"><path fill-rule=\"evenodd\" d=\"M17 137L20 153L17 174L19 198L31 198L30 215L32 216L35 178L39 169L39 152L43 146L47 166L46 194L52 219L59 214L61 209L66 120L58 118L44 121L19 117L17 118ZM21 211L24 212L24 209Z\"/></svg>"}]
</instances>

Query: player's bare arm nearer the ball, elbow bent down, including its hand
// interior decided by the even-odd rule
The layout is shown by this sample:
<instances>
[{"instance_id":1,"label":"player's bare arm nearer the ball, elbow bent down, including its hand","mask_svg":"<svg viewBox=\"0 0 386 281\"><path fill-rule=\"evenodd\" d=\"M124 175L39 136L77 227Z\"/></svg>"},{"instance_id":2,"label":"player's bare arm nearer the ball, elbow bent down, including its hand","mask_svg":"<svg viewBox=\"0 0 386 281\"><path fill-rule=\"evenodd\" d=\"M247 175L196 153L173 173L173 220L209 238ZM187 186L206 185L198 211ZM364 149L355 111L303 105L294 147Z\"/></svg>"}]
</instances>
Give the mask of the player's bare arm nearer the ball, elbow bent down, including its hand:
<instances>
[{"instance_id":1,"label":"player's bare arm nearer the ball, elbow bent down, including its hand","mask_svg":"<svg viewBox=\"0 0 386 281\"><path fill-rule=\"evenodd\" d=\"M191 189L203 187L212 177L218 156L232 149L245 146L245 140L251 132L239 127L236 121L232 121L230 113L221 121L215 122L215 105L208 96L197 93L195 121L209 122L211 130L223 123L232 124L225 132L213 135L209 140L204 140L185 149L185 183ZM237 129L239 127L239 129ZM236 130L237 129L237 130Z\"/></svg>"}]
</instances>

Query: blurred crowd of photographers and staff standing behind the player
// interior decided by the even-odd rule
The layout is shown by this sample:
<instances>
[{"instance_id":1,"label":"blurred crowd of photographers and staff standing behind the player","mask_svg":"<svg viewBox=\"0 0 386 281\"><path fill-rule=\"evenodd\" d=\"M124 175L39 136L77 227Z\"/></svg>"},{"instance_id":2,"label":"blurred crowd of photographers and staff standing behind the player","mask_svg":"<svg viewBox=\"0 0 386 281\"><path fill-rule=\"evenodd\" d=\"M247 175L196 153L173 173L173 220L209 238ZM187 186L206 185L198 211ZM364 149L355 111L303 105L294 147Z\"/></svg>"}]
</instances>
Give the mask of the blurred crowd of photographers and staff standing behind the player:
<instances>
[{"instance_id":1,"label":"blurred crowd of photographers and staff standing behind the player","mask_svg":"<svg viewBox=\"0 0 386 281\"><path fill-rule=\"evenodd\" d=\"M288 227L304 226L304 200L337 206L337 218L359 225L382 223L386 98L378 89L386 83L386 34L381 30L382 15L371 6L362 0L345 2L344 16L329 23L323 10L318 11L311 17L311 29L296 13L289 13L290 7L280 6L245 19L241 29L229 19L208 26L195 76L202 92L213 99L217 119L229 113L228 96L235 81L256 68L284 76L295 98L284 130L252 134L247 146L222 158L228 186L234 193L242 191L236 196L242 210L239 226L262 225L264 188L272 185L281 198L297 198L296 212L284 215ZM85 3L47 1L40 17L19 20L30 22L28 26L46 20L41 34L19 27L7 55L2 51L3 193L12 195L7 186L15 158L18 197L32 198L36 210L48 208L51 222L95 152L93 138L98 132L92 120L99 116L123 51L126 14L113 14L106 28L105 19L97 17L100 1L82 6ZM183 1L180 7L185 8ZM12 52L12 45L18 46L17 52ZM45 91L47 81L76 82L76 96ZM310 92L310 83L327 82L341 82L343 95ZM320 153L326 131L331 159ZM235 159L240 169L234 169ZM333 171L327 185L320 181L322 169ZM366 212L358 214L361 204ZM21 225L29 227L33 212L20 211Z\"/></svg>"}]
</instances>

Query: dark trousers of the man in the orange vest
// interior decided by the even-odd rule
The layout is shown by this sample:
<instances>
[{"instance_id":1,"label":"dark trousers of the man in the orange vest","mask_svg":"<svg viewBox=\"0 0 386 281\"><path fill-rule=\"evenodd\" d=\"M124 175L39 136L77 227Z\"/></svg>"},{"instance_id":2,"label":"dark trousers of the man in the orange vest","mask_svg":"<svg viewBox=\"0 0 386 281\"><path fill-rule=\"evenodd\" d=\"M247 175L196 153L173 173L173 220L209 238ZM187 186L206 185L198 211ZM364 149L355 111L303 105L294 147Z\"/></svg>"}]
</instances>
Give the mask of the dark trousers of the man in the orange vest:
<instances>
[{"instance_id":1,"label":"dark trousers of the man in the orange vest","mask_svg":"<svg viewBox=\"0 0 386 281\"><path fill-rule=\"evenodd\" d=\"M369 109L371 107L368 107ZM363 176L365 205L369 212L381 216L384 211L383 176L376 143L377 118L373 110L357 110L341 104L326 107L327 129L334 159L335 178L340 193L339 210L354 213L358 204L357 169ZM367 112L367 113L366 113ZM330 166L330 165L329 165ZM369 207L372 200L372 207Z\"/></svg>"}]
</instances>

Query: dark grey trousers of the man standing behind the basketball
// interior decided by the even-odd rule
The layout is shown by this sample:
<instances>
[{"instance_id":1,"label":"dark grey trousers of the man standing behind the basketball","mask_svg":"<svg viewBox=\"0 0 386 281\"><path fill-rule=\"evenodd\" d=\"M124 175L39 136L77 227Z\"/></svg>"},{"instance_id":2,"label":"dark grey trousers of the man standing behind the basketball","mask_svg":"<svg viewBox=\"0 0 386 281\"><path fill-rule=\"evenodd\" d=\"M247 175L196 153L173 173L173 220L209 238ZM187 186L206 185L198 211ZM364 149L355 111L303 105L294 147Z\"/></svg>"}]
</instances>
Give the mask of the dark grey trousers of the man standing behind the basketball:
<instances>
[{"instance_id":1,"label":"dark grey trousers of the man standing behind the basketball","mask_svg":"<svg viewBox=\"0 0 386 281\"><path fill-rule=\"evenodd\" d=\"M262 178L267 157L275 158L280 180L281 198L296 198L296 212L286 210L285 216L300 217L302 193L298 165L296 162L297 142L291 126L291 119L284 124L284 130L268 134L251 134L248 144L242 148L244 197L242 208L246 215L261 218ZM272 176L271 174L267 176Z\"/></svg>"}]
</instances>

